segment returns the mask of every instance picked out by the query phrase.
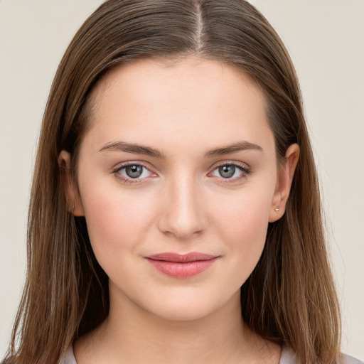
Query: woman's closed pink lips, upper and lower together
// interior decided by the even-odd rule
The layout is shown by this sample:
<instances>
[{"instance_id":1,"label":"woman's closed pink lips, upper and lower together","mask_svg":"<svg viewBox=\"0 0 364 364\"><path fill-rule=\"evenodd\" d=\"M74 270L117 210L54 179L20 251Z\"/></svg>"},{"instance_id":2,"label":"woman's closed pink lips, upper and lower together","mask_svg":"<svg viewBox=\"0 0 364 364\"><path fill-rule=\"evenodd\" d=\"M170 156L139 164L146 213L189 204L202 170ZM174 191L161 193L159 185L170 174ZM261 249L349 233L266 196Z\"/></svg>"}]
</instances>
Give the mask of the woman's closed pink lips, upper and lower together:
<instances>
[{"instance_id":1,"label":"woman's closed pink lips, upper and lower together","mask_svg":"<svg viewBox=\"0 0 364 364\"><path fill-rule=\"evenodd\" d=\"M200 252L182 255L174 252L164 252L149 255L145 258L159 272L170 277L188 278L208 269L218 259L218 256Z\"/></svg>"}]
</instances>

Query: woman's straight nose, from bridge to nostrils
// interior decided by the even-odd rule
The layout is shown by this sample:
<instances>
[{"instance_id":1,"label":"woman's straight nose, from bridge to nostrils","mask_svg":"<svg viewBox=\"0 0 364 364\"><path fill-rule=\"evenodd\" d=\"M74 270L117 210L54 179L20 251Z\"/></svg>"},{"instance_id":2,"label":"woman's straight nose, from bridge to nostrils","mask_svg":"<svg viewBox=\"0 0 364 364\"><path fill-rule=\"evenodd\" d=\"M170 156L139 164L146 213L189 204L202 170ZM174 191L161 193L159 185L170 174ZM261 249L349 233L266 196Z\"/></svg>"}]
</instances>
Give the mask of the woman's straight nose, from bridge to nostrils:
<instances>
[{"instance_id":1,"label":"woman's straight nose, from bridge to nostrils","mask_svg":"<svg viewBox=\"0 0 364 364\"><path fill-rule=\"evenodd\" d=\"M194 178L175 178L166 184L161 198L162 211L159 230L178 240L188 240L199 235L207 226L203 193Z\"/></svg>"}]
</instances>

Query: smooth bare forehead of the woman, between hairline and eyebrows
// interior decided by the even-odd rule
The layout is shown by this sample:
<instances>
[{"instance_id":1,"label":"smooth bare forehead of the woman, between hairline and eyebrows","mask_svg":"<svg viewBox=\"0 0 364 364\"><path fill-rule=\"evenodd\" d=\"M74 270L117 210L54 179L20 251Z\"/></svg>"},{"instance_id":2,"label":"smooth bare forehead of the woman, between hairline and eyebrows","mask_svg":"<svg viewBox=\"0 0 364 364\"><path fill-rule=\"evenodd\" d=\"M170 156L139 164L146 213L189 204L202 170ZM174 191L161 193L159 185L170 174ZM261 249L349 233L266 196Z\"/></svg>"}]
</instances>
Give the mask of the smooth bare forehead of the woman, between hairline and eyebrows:
<instances>
[{"instance_id":1,"label":"smooth bare forehead of the woman, between hairline and eyebrows","mask_svg":"<svg viewBox=\"0 0 364 364\"><path fill-rule=\"evenodd\" d=\"M90 110L90 129L100 142L139 133L140 142L153 136L159 143L168 136L218 143L269 132L255 82L230 65L198 57L119 65L97 83Z\"/></svg>"}]
</instances>

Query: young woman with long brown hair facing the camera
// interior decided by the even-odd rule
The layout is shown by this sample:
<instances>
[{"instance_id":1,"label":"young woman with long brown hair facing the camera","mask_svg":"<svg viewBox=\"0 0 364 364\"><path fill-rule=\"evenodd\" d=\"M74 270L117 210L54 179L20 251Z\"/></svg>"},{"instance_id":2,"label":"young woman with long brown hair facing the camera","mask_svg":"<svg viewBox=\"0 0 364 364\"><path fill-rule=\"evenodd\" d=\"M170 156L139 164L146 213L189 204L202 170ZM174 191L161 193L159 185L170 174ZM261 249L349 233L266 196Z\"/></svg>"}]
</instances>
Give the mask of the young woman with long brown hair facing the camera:
<instances>
[{"instance_id":1,"label":"young woman with long brown hair facing the camera","mask_svg":"<svg viewBox=\"0 0 364 364\"><path fill-rule=\"evenodd\" d=\"M28 249L9 363L348 360L299 85L245 1L87 19L45 110Z\"/></svg>"}]
</instances>

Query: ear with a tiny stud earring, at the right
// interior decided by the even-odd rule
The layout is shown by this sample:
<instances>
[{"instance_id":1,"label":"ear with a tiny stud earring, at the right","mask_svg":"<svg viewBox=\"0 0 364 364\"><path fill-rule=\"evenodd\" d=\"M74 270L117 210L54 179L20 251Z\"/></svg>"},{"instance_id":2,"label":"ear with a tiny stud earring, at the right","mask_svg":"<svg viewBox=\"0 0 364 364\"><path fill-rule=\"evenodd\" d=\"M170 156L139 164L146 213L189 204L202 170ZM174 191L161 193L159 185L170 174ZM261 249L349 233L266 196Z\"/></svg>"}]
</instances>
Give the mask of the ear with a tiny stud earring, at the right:
<instances>
[{"instance_id":1,"label":"ear with a tiny stud earring, at the right","mask_svg":"<svg viewBox=\"0 0 364 364\"><path fill-rule=\"evenodd\" d=\"M279 166L277 185L272 198L272 205L269 211L269 223L279 220L284 215L286 203L291 190L291 184L299 161L299 145L291 144L287 149L286 157Z\"/></svg>"}]
</instances>

